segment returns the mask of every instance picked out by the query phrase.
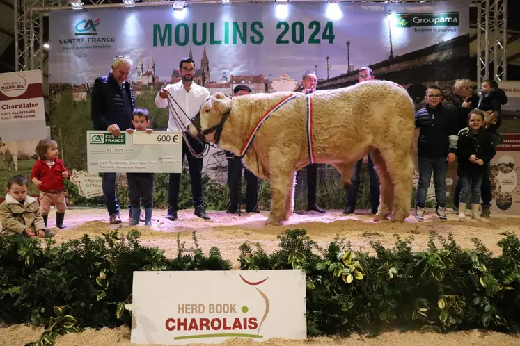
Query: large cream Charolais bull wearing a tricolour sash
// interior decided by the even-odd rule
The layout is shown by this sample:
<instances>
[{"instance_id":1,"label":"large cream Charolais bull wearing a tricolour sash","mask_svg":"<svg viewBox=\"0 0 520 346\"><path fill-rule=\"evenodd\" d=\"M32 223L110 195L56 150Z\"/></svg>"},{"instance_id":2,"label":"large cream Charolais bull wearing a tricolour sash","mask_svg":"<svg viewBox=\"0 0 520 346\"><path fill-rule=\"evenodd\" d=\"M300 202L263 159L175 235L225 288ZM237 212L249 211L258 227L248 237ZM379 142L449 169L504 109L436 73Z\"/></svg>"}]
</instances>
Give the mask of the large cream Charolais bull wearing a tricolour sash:
<instances>
[{"instance_id":1,"label":"large cream Charolais bull wearing a tricolour sash","mask_svg":"<svg viewBox=\"0 0 520 346\"><path fill-rule=\"evenodd\" d=\"M200 108L199 127L206 130L206 140L215 142L212 128L221 124L219 147L235 155L245 153L243 161L248 169L271 181L267 223L280 224L292 214L294 175L310 163L310 156L313 162L336 167L343 183L349 183L354 163L368 153L381 181L381 203L375 220L391 213L392 220L404 220L410 208L415 129L413 102L407 91L389 81L370 81L317 91L310 99L306 94L294 94L266 118L269 110L290 94L230 98L217 93ZM251 141L255 128L258 131ZM191 135L200 135L194 125L189 130ZM246 150L248 142L251 144Z\"/></svg>"}]
</instances>

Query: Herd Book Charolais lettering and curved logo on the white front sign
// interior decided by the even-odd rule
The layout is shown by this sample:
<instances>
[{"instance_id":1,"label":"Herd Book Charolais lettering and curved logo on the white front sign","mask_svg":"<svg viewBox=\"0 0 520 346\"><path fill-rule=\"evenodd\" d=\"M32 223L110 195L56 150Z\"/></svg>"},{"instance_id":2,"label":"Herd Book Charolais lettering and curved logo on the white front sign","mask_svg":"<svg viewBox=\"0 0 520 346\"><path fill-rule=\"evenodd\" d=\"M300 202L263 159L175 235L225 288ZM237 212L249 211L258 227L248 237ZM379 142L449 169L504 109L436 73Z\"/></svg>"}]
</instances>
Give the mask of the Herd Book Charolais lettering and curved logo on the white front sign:
<instances>
[{"instance_id":1,"label":"Herd Book Charolais lettering and curved logo on the white front sign","mask_svg":"<svg viewBox=\"0 0 520 346\"><path fill-rule=\"evenodd\" d=\"M259 286L269 277L250 282L240 275L240 279L249 286ZM259 288L255 287L265 301L264 311L251 311L246 304L178 304L178 316L168 318L164 327L175 331L174 340L197 338L263 338L260 335L262 324L269 315L269 299ZM212 318L183 317L182 315L216 315ZM220 317L223 315L225 317ZM200 331L200 333L183 333Z\"/></svg>"}]
</instances>

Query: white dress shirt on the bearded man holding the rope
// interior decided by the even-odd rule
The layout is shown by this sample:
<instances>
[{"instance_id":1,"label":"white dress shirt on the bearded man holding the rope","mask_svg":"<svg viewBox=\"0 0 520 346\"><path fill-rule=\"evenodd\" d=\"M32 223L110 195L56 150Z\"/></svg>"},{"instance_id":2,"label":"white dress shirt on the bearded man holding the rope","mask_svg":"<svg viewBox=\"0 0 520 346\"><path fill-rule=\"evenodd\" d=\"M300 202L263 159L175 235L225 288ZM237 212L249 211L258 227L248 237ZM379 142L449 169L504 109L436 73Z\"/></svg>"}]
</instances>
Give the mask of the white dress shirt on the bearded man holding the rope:
<instances>
[{"instance_id":1,"label":"white dress shirt on the bearded man holding the rope","mask_svg":"<svg viewBox=\"0 0 520 346\"><path fill-rule=\"evenodd\" d=\"M184 85L182 84L182 81L179 81L175 84L168 84L166 85L166 88L168 92L171 94L173 99L177 101L179 106L186 112L189 119L184 115L182 110L179 109L177 104L172 101L173 107L177 111L177 114L180 117L180 120L184 126L188 126L190 124L190 119L197 115L198 110L200 110L200 107L204 104L204 102L210 98L210 92L207 91L206 88L197 85L196 83L191 83L191 88L189 92L184 89ZM157 94L155 97L155 105L159 108L165 108L168 107L168 99L163 99L162 97ZM168 119L168 130L167 131L185 131L185 129L178 129L178 126L175 124L175 121L173 120L173 117L175 116L175 113L172 113L172 110L169 110L170 117Z\"/></svg>"}]
</instances>

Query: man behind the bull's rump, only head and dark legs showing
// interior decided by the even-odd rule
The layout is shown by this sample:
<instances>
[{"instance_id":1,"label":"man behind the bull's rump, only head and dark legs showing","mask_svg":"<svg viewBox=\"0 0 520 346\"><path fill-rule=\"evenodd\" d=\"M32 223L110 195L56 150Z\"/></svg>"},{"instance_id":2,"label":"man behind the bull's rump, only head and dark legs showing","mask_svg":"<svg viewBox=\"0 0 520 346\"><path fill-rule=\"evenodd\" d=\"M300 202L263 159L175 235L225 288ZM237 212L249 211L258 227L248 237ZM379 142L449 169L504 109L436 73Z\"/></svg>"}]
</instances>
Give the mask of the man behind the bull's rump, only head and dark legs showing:
<instances>
[{"instance_id":1,"label":"man behind the bull's rump, only head and dark legs showing","mask_svg":"<svg viewBox=\"0 0 520 346\"><path fill-rule=\"evenodd\" d=\"M370 67L361 67L358 72L358 82L373 81L375 79L374 72ZM372 214L377 213L379 208L379 177L375 171L374 162L370 154L358 160L354 164L352 170L352 179L350 185L346 186L347 195L345 196L345 211L344 214L352 214L356 209L356 199L358 196L359 184L361 183L361 164L368 163L368 174L370 176L370 207Z\"/></svg>"}]
</instances>

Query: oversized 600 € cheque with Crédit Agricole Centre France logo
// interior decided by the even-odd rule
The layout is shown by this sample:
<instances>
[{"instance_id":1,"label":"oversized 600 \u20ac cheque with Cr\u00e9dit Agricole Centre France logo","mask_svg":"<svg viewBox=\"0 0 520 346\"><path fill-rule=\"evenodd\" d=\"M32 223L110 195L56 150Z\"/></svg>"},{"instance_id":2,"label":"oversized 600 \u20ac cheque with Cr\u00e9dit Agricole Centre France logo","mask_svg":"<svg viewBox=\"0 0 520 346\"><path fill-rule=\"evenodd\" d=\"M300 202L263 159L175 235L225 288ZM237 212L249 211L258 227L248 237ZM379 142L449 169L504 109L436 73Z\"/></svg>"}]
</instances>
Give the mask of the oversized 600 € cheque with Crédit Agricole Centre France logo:
<instances>
[{"instance_id":1,"label":"oversized 600 \u20ac cheque with Cr\u00e9dit Agricole Centre France logo","mask_svg":"<svg viewBox=\"0 0 520 346\"><path fill-rule=\"evenodd\" d=\"M87 131L89 173L181 173L182 134Z\"/></svg>"}]
</instances>

